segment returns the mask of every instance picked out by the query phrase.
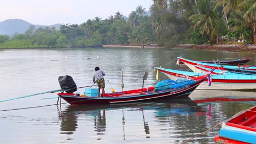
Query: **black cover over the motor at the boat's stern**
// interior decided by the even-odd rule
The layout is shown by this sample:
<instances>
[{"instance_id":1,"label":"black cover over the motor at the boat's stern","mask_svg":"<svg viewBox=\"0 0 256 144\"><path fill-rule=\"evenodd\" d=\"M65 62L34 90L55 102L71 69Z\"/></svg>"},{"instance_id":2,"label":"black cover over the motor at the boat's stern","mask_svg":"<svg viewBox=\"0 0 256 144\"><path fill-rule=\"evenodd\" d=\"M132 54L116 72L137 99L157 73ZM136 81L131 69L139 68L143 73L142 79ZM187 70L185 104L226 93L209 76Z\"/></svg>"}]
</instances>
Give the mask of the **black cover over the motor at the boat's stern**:
<instances>
[{"instance_id":1,"label":"black cover over the motor at the boat's stern","mask_svg":"<svg viewBox=\"0 0 256 144\"><path fill-rule=\"evenodd\" d=\"M75 82L71 76L59 76L58 81L60 83L61 89L69 89L68 91L65 91L66 93L73 93L77 91L77 85L75 85Z\"/></svg>"}]
</instances>

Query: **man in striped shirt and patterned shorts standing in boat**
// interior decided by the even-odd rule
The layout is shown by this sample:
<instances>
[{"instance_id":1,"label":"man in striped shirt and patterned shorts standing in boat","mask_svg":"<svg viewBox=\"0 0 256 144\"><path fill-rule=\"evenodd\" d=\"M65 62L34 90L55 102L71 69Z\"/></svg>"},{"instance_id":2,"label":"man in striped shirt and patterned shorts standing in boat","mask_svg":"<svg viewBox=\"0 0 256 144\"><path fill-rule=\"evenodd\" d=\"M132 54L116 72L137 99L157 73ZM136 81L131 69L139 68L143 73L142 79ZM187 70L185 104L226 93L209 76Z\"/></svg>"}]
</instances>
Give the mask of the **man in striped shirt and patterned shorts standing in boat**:
<instances>
[{"instance_id":1,"label":"man in striped shirt and patterned shorts standing in boat","mask_svg":"<svg viewBox=\"0 0 256 144\"><path fill-rule=\"evenodd\" d=\"M96 73L94 74L92 81L94 81L94 83L96 82L98 85L98 96L99 97L101 96L100 91L102 89L102 96L104 97L105 96L105 90L104 90L105 80L104 80L103 76L105 76L105 73L104 73L104 71L100 70L99 67L95 67L95 71L96 71Z\"/></svg>"}]
</instances>

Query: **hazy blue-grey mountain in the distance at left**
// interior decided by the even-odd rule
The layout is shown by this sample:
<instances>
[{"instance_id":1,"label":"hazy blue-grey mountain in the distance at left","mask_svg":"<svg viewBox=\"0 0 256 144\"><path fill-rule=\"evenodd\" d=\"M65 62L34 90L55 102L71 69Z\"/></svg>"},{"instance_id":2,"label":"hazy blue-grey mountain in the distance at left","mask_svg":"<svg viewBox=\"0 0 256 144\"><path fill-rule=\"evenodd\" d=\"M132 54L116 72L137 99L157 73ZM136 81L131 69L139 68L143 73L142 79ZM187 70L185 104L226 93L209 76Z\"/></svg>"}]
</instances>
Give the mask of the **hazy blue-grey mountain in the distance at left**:
<instances>
[{"instance_id":1,"label":"hazy blue-grey mountain in the distance at left","mask_svg":"<svg viewBox=\"0 0 256 144\"><path fill-rule=\"evenodd\" d=\"M0 35L13 35L15 33L25 33L30 26L33 25L27 21L20 19L9 19L0 22ZM34 25L37 28L46 27L44 25ZM55 27L60 29L61 24L50 25L48 27Z\"/></svg>"}]
</instances>

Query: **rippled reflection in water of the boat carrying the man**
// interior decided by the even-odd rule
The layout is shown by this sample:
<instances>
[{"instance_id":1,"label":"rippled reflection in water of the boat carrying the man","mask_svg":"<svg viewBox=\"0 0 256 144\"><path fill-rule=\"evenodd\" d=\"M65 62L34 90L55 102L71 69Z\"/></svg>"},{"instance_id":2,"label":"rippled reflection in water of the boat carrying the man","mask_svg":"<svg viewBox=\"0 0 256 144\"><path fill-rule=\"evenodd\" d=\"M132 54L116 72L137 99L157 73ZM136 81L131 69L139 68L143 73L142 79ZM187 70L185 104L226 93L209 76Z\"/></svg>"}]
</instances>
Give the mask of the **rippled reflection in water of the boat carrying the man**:
<instances>
[{"instance_id":1,"label":"rippled reflection in water of the boat carrying the man","mask_svg":"<svg viewBox=\"0 0 256 144\"><path fill-rule=\"evenodd\" d=\"M208 115L210 110L206 110L202 107L197 106L197 104L188 97L184 97L181 99L164 99L164 100L155 100L145 103L129 103L129 104L114 104L114 105L79 105L79 106L71 106L68 105L65 111L61 113L61 134L73 134L78 128L78 119L83 118L84 116L89 119L89 121L94 124L94 131L96 131L97 135L106 135L107 131L107 121L106 113L111 111L121 111L122 117L120 117L120 121L123 125L123 139L125 140L125 124L126 124L126 115L129 112L137 111L138 117L141 117L141 122L143 122L144 133L148 136L146 138L150 138L150 127L147 121L147 117L145 117L146 111L154 111L155 121L162 121L162 119L166 119L164 123L168 122L169 117L179 117L183 116L199 116L199 115ZM139 111L141 114L139 114ZM210 114L209 114L210 115ZM110 118L111 120L111 118ZM161 122L163 123L163 122ZM134 126L134 125L133 125Z\"/></svg>"}]
</instances>

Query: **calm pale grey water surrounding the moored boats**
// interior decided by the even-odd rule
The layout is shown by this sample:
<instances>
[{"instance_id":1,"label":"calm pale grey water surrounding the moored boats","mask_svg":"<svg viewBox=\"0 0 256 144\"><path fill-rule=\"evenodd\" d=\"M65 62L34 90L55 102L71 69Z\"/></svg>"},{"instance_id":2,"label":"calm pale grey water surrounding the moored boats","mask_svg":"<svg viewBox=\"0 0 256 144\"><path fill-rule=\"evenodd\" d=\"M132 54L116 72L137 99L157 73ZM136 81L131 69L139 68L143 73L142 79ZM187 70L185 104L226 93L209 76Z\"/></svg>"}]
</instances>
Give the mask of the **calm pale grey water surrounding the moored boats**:
<instances>
[{"instance_id":1,"label":"calm pale grey water surrounding the moored boats","mask_svg":"<svg viewBox=\"0 0 256 144\"><path fill-rule=\"evenodd\" d=\"M187 70L173 62L177 56L205 61L253 57L248 64L256 64L255 55L183 49L0 50L0 100L60 89L57 79L62 75L71 75L78 87L90 86L96 66L106 72L106 92L111 87L121 91L121 69L124 90L141 88L145 71L149 76L144 87L154 86L158 82L154 67ZM160 74L163 79L167 77ZM194 91L190 98L175 100L60 107L54 105L56 93L36 95L0 103L0 143L182 143L255 105L255 96L255 92ZM218 130L188 143L214 143Z\"/></svg>"}]
</instances>

